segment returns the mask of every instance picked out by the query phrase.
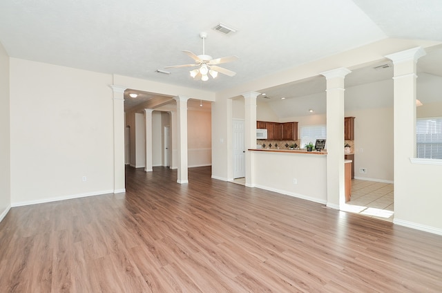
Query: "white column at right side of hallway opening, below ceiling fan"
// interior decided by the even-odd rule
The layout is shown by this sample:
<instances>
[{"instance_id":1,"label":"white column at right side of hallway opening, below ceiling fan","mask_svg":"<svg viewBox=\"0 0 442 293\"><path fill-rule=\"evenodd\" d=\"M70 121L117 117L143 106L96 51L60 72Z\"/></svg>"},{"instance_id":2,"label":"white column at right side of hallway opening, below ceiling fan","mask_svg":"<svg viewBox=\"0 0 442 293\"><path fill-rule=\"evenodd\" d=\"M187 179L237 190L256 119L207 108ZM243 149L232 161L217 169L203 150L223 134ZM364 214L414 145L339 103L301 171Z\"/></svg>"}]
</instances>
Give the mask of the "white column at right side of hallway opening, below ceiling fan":
<instances>
[{"instance_id":1,"label":"white column at right side of hallway opening, below ceiling fan","mask_svg":"<svg viewBox=\"0 0 442 293\"><path fill-rule=\"evenodd\" d=\"M188 183L187 174L187 100L189 97L179 95L177 101L177 144L178 144L178 178L180 184Z\"/></svg>"}]
</instances>

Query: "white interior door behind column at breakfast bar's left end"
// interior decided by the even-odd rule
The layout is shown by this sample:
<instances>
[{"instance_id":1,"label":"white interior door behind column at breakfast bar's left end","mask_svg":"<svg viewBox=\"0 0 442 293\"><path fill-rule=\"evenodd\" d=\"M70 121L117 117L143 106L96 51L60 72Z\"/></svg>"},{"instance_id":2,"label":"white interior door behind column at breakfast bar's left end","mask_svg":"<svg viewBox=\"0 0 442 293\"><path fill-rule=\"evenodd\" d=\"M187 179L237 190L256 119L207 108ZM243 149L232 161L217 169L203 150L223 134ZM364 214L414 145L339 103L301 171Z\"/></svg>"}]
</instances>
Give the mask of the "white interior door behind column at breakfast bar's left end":
<instances>
[{"instance_id":1,"label":"white interior door behind column at breakfast bar's left end","mask_svg":"<svg viewBox=\"0 0 442 293\"><path fill-rule=\"evenodd\" d=\"M246 176L244 120L233 120L233 179Z\"/></svg>"}]
</instances>

